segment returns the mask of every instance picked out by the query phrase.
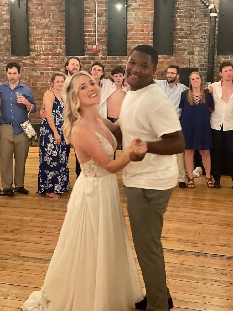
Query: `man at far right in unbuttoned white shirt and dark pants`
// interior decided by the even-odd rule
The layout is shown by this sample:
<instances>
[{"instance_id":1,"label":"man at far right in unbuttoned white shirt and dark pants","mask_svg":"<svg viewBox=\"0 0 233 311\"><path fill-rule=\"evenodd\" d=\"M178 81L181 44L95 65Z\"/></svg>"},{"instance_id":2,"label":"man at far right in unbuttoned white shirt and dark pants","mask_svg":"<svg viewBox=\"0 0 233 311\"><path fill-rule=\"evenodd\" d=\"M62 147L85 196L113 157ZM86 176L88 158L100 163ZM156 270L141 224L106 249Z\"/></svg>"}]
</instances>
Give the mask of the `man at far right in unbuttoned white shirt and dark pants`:
<instances>
[{"instance_id":1,"label":"man at far right in unbuttoned white shirt and dark pants","mask_svg":"<svg viewBox=\"0 0 233 311\"><path fill-rule=\"evenodd\" d=\"M221 188L220 163L226 161L233 181L233 64L224 61L219 67L221 81L212 83L214 111L211 114L211 128L213 137L212 174L215 188ZM225 147L227 159L221 159ZM233 189L233 186L232 186Z\"/></svg>"}]
</instances>

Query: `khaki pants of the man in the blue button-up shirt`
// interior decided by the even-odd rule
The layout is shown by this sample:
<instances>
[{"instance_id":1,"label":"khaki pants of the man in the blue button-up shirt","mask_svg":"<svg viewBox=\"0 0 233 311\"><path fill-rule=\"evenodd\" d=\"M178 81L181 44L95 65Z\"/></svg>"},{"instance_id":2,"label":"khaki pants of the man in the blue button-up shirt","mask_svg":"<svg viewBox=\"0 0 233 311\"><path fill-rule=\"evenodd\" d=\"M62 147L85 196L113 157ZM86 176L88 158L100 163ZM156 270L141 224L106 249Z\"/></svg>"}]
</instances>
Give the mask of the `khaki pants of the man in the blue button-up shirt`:
<instances>
[{"instance_id":1,"label":"khaki pants of the man in the blue button-up shirt","mask_svg":"<svg viewBox=\"0 0 233 311\"><path fill-rule=\"evenodd\" d=\"M7 124L0 125L0 154L1 154L1 180L2 187L18 190L24 187L25 163L29 151L29 140L22 132L13 135L13 127ZM14 163L14 185L13 184L13 155Z\"/></svg>"}]
</instances>

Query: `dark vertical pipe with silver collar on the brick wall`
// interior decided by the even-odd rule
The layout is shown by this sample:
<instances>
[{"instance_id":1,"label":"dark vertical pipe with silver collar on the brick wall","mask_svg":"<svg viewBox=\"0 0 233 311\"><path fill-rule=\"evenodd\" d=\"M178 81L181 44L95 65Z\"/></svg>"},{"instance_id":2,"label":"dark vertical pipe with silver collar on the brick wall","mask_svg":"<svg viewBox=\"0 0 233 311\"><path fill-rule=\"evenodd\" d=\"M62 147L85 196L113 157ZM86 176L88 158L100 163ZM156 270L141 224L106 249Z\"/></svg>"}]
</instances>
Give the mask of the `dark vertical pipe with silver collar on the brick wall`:
<instances>
[{"instance_id":1,"label":"dark vertical pipe with silver collar on the brick wall","mask_svg":"<svg viewBox=\"0 0 233 311\"><path fill-rule=\"evenodd\" d=\"M209 37L209 53L208 53L208 68L207 81L213 82L214 75L214 56L215 56L215 29L217 10L213 3L209 0L200 0L206 8L210 10L210 37Z\"/></svg>"}]
</instances>

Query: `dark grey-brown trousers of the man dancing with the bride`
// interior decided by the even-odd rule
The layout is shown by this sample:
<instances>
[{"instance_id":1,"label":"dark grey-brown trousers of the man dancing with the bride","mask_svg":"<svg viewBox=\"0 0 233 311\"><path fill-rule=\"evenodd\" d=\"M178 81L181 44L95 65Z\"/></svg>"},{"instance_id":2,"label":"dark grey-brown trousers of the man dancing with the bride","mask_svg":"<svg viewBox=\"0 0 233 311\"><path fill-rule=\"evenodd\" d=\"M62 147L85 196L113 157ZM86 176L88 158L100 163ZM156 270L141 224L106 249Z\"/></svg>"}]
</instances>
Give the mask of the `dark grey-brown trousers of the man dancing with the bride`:
<instances>
[{"instance_id":1,"label":"dark grey-brown trousers of the man dancing with the bride","mask_svg":"<svg viewBox=\"0 0 233 311\"><path fill-rule=\"evenodd\" d=\"M125 187L133 243L142 270L148 311L168 311L170 293L166 285L161 233L163 214L172 189Z\"/></svg>"}]
</instances>

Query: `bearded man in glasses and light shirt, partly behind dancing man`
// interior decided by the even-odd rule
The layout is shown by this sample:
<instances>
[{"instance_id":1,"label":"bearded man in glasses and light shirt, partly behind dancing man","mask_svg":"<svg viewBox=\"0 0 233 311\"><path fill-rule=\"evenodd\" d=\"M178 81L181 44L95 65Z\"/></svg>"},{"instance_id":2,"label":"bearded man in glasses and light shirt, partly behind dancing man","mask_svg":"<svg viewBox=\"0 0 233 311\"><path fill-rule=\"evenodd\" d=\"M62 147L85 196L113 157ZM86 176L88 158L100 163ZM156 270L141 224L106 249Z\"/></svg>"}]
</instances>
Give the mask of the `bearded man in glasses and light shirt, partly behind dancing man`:
<instances>
[{"instance_id":1,"label":"bearded man in glasses and light shirt, partly behind dancing man","mask_svg":"<svg viewBox=\"0 0 233 311\"><path fill-rule=\"evenodd\" d=\"M168 70L166 72L166 79L165 80L157 80L154 79L154 82L158 84L158 86L162 89L162 91L167 95L170 101L173 103L174 108L176 110L177 116L180 119L181 110L179 108L180 98L182 92L187 90L188 87L184 84L178 83L179 80L179 67L176 65L169 65ZM185 164L184 164L184 152L179 153L177 156L177 164L179 168L179 188L185 189Z\"/></svg>"}]
</instances>

